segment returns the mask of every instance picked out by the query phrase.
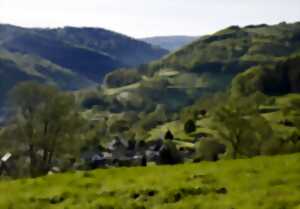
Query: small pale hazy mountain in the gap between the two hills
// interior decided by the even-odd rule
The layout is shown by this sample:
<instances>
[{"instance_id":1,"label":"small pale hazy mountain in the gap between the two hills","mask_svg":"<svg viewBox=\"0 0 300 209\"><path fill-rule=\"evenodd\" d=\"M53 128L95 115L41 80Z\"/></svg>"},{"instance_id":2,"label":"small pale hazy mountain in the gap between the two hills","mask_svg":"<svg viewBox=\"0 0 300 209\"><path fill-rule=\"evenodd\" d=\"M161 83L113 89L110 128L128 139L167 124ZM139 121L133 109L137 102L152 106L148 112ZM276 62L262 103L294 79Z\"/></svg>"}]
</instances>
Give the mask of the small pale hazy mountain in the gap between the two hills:
<instances>
[{"instance_id":1,"label":"small pale hazy mountain in the gap between the two hills","mask_svg":"<svg viewBox=\"0 0 300 209\"><path fill-rule=\"evenodd\" d=\"M175 51L192 43L198 38L199 37L196 36L157 36L142 38L141 40L152 44L153 46L159 46L169 51Z\"/></svg>"}]
</instances>

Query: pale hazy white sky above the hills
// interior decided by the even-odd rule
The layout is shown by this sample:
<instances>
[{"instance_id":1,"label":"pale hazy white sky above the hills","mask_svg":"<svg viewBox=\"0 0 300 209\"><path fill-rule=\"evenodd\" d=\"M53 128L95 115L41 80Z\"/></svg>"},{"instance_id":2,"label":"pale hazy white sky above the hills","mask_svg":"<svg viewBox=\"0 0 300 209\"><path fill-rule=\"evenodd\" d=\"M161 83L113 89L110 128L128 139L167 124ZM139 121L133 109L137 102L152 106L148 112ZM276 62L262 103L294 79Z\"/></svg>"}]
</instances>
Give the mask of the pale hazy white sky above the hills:
<instances>
[{"instance_id":1,"label":"pale hazy white sky above the hills","mask_svg":"<svg viewBox=\"0 0 300 209\"><path fill-rule=\"evenodd\" d=\"M95 26L133 37L204 35L282 21L300 21L300 0L0 0L1 23Z\"/></svg>"}]
</instances>

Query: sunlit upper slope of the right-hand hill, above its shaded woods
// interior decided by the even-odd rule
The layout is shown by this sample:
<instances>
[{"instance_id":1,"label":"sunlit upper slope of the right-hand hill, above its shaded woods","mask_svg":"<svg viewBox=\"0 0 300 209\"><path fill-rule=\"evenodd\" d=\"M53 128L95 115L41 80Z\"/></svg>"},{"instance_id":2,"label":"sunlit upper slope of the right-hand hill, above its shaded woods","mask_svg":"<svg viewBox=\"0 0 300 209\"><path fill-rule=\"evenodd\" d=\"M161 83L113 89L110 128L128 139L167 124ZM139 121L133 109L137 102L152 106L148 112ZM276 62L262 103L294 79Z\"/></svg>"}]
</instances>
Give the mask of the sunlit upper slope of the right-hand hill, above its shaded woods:
<instances>
[{"instance_id":1,"label":"sunlit upper slope of the right-hand hill, above its shaded woods","mask_svg":"<svg viewBox=\"0 0 300 209\"><path fill-rule=\"evenodd\" d=\"M231 26L162 59L158 64L194 72L239 72L299 52L300 23Z\"/></svg>"}]
</instances>

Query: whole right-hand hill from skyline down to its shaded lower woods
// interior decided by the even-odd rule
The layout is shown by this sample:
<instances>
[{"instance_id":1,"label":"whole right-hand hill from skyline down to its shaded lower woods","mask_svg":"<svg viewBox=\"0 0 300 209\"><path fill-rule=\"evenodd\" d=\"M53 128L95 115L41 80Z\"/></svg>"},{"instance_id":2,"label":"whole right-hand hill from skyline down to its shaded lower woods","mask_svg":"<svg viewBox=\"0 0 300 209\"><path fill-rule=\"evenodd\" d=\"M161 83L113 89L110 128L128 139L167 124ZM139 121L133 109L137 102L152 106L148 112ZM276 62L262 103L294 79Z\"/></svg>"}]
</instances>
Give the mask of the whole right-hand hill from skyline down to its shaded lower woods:
<instances>
[{"instance_id":1,"label":"whole right-hand hill from skyline down to its shaded lower woods","mask_svg":"<svg viewBox=\"0 0 300 209\"><path fill-rule=\"evenodd\" d=\"M140 76L109 74L106 81L115 82L104 93L118 97L129 92L131 100L139 97L176 111L203 95L229 89L232 79L251 67L270 67L297 56L299 37L300 23L231 26L139 68Z\"/></svg>"}]
</instances>

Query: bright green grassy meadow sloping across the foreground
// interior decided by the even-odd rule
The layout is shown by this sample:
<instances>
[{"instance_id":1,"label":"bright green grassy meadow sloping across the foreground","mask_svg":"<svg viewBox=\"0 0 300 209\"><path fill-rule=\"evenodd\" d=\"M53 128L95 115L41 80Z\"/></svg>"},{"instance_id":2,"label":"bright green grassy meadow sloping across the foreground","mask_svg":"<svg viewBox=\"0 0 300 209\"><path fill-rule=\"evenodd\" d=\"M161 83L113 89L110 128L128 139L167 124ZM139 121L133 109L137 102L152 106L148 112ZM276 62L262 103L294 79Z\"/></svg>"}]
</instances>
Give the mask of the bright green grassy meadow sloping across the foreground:
<instances>
[{"instance_id":1,"label":"bright green grassy meadow sloping across the foreground","mask_svg":"<svg viewBox=\"0 0 300 209\"><path fill-rule=\"evenodd\" d=\"M299 209L300 154L0 183L2 209Z\"/></svg>"}]
</instances>

